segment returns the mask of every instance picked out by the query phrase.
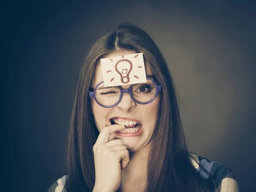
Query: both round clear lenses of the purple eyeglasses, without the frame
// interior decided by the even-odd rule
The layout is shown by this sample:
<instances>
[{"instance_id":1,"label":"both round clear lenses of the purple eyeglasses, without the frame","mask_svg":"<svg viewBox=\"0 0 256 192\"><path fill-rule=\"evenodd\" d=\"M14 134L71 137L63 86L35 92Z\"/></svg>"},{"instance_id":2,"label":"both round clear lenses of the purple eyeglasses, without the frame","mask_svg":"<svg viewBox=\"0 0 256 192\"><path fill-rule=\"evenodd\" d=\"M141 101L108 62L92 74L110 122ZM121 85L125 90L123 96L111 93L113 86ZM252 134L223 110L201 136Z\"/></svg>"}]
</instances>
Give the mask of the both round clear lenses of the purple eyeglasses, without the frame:
<instances>
[{"instance_id":1,"label":"both round clear lenses of the purple eyeglasses, without the frame","mask_svg":"<svg viewBox=\"0 0 256 192\"><path fill-rule=\"evenodd\" d=\"M97 101L105 106L115 105L119 101L120 89L116 87L104 87L104 84L99 84L96 89ZM146 83L132 84L131 95L137 102L146 103L154 98L156 87L153 81L147 79Z\"/></svg>"}]
</instances>

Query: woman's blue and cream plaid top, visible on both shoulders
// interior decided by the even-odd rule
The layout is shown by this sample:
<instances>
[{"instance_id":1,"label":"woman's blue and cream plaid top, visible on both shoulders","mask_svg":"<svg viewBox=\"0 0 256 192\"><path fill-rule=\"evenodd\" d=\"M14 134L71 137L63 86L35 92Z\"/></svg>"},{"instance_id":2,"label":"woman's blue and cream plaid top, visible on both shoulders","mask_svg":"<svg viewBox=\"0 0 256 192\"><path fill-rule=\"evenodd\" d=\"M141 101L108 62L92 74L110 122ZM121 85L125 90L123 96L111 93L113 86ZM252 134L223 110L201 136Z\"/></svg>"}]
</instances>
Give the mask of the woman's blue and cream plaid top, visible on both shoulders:
<instances>
[{"instance_id":1,"label":"woman's blue and cream plaid top, visible on both shoulders","mask_svg":"<svg viewBox=\"0 0 256 192\"><path fill-rule=\"evenodd\" d=\"M203 171L203 169L201 169L201 167L204 167L207 172L209 172L210 175L213 177L215 185L217 187L215 192L239 192L239 186L236 180L236 176L229 167L216 161L209 161L205 157L200 157L195 154L192 155L199 163L199 166L192 158L190 159L190 161L195 169L197 169L197 171L200 173L200 176L205 181L207 181L208 175L206 172ZM67 175L59 178L52 184L47 192L62 192L66 180Z\"/></svg>"}]
</instances>

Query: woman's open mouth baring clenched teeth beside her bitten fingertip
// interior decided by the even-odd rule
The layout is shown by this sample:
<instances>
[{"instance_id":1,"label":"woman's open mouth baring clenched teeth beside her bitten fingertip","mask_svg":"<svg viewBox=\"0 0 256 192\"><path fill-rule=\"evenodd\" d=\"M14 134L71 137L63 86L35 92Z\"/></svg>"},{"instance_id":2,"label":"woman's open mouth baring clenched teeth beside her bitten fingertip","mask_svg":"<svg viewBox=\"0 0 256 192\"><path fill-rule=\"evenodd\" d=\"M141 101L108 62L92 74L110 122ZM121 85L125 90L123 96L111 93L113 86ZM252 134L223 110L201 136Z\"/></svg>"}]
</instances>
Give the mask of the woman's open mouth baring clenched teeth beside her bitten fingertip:
<instances>
[{"instance_id":1,"label":"woman's open mouth baring clenched teeth beside her bitten fingertip","mask_svg":"<svg viewBox=\"0 0 256 192\"><path fill-rule=\"evenodd\" d=\"M112 125L125 125L125 130L119 131L120 133L137 133L140 131L141 125L136 121L131 121L128 119L112 118L110 119Z\"/></svg>"}]
</instances>

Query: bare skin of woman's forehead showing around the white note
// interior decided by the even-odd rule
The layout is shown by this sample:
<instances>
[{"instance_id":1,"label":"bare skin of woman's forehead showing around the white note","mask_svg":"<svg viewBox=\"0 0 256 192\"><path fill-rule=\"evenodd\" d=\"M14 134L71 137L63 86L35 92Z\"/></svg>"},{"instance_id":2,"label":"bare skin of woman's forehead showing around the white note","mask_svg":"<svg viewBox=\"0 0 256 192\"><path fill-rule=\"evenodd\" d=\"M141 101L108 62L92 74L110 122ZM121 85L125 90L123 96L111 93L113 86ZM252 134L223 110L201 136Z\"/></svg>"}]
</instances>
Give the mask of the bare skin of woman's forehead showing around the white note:
<instances>
[{"instance_id":1,"label":"bare skin of woman's forehead showing around the white note","mask_svg":"<svg viewBox=\"0 0 256 192\"><path fill-rule=\"evenodd\" d=\"M122 53L126 53L126 55L128 54L132 54L134 52L122 52ZM119 56L119 54L110 54L110 55L107 55L105 58L108 58L108 57L115 57L115 56ZM122 54L121 54L122 55ZM154 76L149 64L148 64L148 61L144 61L144 64L145 64L145 72L146 72L146 76ZM102 76L102 68L101 68L101 64L100 64L100 61L99 63L97 64L97 67L96 67L96 73L95 73L95 76L93 78L93 81L92 81L92 84L91 84L91 87L96 87L97 84L99 84L100 82L103 81L103 76Z\"/></svg>"}]
</instances>

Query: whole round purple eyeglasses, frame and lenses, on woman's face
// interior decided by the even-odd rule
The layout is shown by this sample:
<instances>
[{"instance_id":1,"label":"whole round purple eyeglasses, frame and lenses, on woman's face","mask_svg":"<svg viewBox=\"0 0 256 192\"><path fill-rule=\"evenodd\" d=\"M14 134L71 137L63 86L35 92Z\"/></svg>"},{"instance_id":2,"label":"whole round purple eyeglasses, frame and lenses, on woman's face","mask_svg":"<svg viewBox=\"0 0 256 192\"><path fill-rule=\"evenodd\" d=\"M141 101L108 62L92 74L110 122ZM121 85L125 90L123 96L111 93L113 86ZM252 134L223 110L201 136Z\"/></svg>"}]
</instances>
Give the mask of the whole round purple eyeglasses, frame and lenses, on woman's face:
<instances>
[{"instance_id":1,"label":"whole round purple eyeglasses, frame and lenses, on woman's face","mask_svg":"<svg viewBox=\"0 0 256 192\"><path fill-rule=\"evenodd\" d=\"M89 91L90 98L104 108L113 108L118 105L122 99L123 93L129 93L134 102L145 105L152 102L162 86L157 85L154 79L147 77L146 83L131 84L128 89L122 89L121 86L104 87L103 81L96 85L93 92Z\"/></svg>"}]
</instances>

